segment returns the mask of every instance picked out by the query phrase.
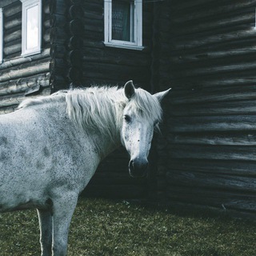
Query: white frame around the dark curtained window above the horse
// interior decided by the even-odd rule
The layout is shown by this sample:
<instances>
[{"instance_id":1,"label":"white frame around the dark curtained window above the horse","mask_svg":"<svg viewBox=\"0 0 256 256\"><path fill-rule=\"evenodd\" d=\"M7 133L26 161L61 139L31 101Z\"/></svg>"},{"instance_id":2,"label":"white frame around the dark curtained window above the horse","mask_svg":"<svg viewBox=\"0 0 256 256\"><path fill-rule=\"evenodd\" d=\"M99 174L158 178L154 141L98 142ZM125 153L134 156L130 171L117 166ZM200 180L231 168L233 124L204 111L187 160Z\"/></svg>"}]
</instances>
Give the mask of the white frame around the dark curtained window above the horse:
<instances>
[{"instance_id":1,"label":"white frame around the dark curtained window above the horse","mask_svg":"<svg viewBox=\"0 0 256 256\"><path fill-rule=\"evenodd\" d=\"M112 39L112 0L104 0L104 44L106 46L143 50L142 46L142 0L134 0L134 42Z\"/></svg>"}]
</instances>

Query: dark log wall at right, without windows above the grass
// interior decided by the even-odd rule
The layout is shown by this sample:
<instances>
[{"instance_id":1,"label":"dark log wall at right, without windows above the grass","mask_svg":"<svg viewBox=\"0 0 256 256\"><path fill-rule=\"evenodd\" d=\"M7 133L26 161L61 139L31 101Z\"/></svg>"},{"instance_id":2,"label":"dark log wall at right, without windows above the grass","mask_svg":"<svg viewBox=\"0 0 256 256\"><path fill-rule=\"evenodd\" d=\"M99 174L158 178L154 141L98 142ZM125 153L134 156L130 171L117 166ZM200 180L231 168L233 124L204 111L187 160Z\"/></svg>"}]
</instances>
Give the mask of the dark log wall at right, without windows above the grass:
<instances>
[{"instance_id":1,"label":"dark log wall at right, without windows above the grass","mask_svg":"<svg viewBox=\"0 0 256 256\"><path fill-rule=\"evenodd\" d=\"M255 214L255 4L171 3L167 202Z\"/></svg>"}]
</instances>

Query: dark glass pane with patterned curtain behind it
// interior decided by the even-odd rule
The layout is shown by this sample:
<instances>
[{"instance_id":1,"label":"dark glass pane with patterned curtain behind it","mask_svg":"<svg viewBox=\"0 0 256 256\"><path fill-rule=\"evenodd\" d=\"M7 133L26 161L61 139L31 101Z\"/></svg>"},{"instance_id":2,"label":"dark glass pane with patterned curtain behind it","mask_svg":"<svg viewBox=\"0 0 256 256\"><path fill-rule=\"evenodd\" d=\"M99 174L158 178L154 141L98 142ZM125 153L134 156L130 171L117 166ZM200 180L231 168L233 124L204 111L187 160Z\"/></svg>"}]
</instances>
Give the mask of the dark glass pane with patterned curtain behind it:
<instances>
[{"instance_id":1,"label":"dark glass pane with patterned curtain behind it","mask_svg":"<svg viewBox=\"0 0 256 256\"><path fill-rule=\"evenodd\" d=\"M134 1L113 0L112 39L134 42Z\"/></svg>"}]
</instances>

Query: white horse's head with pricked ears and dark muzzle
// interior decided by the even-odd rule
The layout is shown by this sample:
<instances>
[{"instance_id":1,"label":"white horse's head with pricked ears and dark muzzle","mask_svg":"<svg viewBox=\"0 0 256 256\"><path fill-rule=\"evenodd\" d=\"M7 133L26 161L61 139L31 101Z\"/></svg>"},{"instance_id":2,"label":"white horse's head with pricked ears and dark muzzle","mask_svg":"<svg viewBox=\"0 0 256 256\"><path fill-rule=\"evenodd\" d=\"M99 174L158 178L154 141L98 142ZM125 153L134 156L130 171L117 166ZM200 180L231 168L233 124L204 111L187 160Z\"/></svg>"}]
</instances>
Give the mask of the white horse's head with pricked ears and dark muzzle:
<instances>
[{"instance_id":1,"label":"white horse's head with pricked ears and dark muzzle","mask_svg":"<svg viewBox=\"0 0 256 256\"><path fill-rule=\"evenodd\" d=\"M123 111L121 142L130 154L130 176L143 177L154 128L162 118L160 102L169 90L151 95L146 90L135 89L133 82L129 81L124 91L129 101Z\"/></svg>"}]
</instances>

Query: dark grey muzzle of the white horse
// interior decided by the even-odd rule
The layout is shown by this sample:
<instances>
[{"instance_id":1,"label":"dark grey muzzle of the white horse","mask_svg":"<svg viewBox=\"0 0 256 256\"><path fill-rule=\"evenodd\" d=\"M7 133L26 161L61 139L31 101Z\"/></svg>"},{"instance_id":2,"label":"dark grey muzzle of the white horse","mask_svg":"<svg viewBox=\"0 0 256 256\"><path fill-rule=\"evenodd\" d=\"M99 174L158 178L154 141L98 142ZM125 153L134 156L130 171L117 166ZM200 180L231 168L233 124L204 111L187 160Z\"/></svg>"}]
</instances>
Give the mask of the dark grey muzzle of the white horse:
<instances>
[{"instance_id":1,"label":"dark grey muzzle of the white horse","mask_svg":"<svg viewBox=\"0 0 256 256\"><path fill-rule=\"evenodd\" d=\"M129 173L133 178L143 178L147 174L149 162L147 159L135 158L129 162Z\"/></svg>"}]
</instances>

